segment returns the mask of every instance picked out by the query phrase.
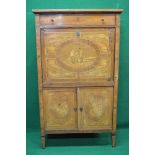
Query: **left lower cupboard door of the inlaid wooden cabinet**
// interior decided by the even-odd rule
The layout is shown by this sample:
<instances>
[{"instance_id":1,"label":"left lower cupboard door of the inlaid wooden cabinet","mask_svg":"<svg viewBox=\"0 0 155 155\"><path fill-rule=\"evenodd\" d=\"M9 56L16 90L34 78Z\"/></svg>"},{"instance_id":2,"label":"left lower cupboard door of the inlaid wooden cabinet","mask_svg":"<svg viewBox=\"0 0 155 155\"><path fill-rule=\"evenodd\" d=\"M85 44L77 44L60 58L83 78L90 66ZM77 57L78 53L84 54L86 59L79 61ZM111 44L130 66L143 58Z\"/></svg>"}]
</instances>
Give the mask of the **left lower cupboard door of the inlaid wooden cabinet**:
<instances>
[{"instance_id":1,"label":"left lower cupboard door of the inlaid wooden cabinet","mask_svg":"<svg viewBox=\"0 0 155 155\"><path fill-rule=\"evenodd\" d=\"M46 130L73 130L77 128L75 89L43 91Z\"/></svg>"}]
</instances>

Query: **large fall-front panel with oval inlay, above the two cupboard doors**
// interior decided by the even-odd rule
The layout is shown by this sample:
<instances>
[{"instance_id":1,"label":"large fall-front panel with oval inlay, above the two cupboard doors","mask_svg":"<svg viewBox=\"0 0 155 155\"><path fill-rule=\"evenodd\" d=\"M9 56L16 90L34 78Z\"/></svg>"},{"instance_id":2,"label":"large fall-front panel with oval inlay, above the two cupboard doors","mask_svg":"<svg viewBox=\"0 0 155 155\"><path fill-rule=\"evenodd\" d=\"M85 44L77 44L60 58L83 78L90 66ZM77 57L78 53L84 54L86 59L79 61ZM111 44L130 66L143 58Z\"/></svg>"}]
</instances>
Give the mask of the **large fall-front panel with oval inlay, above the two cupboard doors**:
<instances>
[{"instance_id":1,"label":"large fall-front panel with oval inlay, above the two cupboard doors","mask_svg":"<svg viewBox=\"0 0 155 155\"><path fill-rule=\"evenodd\" d=\"M114 28L45 29L43 82L113 81Z\"/></svg>"}]
</instances>

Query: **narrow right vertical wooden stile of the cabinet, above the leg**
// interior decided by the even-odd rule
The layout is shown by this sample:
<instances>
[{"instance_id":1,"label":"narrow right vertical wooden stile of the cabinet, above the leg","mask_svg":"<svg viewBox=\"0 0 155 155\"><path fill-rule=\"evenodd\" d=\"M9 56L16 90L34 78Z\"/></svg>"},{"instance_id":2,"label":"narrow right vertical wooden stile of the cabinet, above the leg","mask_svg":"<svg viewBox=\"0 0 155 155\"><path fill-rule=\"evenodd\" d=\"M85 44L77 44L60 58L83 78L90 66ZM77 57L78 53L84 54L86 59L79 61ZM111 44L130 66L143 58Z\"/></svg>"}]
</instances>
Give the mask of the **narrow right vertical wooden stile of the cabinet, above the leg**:
<instances>
[{"instance_id":1,"label":"narrow right vertical wooden stile of the cabinet, above the leg","mask_svg":"<svg viewBox=\"0 0 155 155\"><path fill-rule=\"evenodd\" d=\"M114 105L113 105L113 133L117 124L117 98L118 98L118 74L119 74L119 46L120 46L120 16L116 15L115 34L115 66L114 66Z\"/></svg>"}]
</instances>

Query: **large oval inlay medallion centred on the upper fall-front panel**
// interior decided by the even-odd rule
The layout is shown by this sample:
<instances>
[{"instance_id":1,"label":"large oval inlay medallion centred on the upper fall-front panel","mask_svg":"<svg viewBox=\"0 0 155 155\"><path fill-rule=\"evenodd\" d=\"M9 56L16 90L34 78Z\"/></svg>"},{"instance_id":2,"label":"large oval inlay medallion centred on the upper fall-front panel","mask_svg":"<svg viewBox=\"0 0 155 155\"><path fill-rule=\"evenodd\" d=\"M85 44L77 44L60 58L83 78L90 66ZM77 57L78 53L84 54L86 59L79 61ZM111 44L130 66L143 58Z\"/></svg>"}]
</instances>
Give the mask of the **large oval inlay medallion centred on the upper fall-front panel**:
<instances>
[{"instance_id":1,"label":"large oval inlay medallion centred on the upper fall-front panel","mask_svg":"<svg viewBox=\"0 0 155 155\"><path fill-rule=\"evenodd\" d=\"M68 40L57 48L56 60L67 70L86 71L95 67L99 62L99 49L89 40Z\"/></svg>"}]
</instances>

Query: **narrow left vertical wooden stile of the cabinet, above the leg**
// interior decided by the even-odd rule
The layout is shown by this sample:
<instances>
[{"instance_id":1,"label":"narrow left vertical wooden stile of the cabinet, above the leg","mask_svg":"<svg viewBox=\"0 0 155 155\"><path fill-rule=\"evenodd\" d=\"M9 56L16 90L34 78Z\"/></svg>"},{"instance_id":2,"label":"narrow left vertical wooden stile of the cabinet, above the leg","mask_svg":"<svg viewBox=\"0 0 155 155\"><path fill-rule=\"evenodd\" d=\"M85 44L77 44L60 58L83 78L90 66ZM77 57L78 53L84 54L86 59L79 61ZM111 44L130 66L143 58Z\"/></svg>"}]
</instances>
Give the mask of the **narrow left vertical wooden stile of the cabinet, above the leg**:
<instances>
[{"instance_id":1,"label":"narrow left vertical wooden stile of the cabinet, above the leg","mask_svg":"<svg viewBox=\"0 0 155 155\"><path fill-rule=\"evenodd\" d=\"M38 65L38 93L39 93L39 109L40 109L40 127L41 135L45 135L44 130L44 113L43 113L43 97L42 97L42 69L41 69L41 44L40 44L40 22L39 15L35 16L36 22L36 47L37 47L37 65Z\"/></svg>"}]
</instances>

